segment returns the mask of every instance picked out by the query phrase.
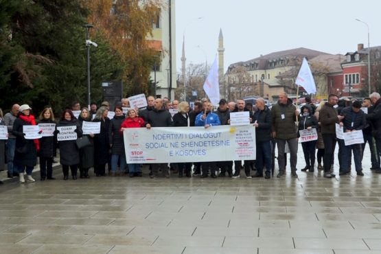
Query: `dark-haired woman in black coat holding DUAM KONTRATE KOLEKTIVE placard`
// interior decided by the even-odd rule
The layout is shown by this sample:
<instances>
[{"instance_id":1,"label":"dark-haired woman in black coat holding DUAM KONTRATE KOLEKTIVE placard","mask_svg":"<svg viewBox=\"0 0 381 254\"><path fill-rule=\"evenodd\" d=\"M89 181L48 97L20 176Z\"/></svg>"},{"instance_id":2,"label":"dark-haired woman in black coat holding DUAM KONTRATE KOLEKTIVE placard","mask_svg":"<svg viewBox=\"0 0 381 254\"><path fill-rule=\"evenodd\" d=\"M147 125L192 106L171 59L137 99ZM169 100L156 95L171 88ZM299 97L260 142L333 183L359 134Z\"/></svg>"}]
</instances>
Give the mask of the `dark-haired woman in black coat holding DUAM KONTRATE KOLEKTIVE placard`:
<instances>
[{"instance_id":1,"label":"dark-haired woman in black coat holding DUAM KONTRATE KOLEKTIVE placard","mask_svg":"<svg viewBox=\"0 0 381 254\"><path fill-rule=\"evenodd\" d=\"M80 122L74 117L73 112L70 109L65 110L62 113L60 122L57 127L76 126L74 132L77 133L77 137L82 137L82 128ZM56 130L59 133L59 130ZM58 141L58 148L60 148L60 164L62 165L62 173L64 180L69 179L69 168L71 170L71 176L73 180L77 180L78 164L80 163L80 152L78 150L76 140Z\"/></svg>"}]
</instances>

